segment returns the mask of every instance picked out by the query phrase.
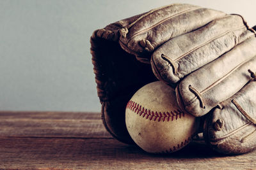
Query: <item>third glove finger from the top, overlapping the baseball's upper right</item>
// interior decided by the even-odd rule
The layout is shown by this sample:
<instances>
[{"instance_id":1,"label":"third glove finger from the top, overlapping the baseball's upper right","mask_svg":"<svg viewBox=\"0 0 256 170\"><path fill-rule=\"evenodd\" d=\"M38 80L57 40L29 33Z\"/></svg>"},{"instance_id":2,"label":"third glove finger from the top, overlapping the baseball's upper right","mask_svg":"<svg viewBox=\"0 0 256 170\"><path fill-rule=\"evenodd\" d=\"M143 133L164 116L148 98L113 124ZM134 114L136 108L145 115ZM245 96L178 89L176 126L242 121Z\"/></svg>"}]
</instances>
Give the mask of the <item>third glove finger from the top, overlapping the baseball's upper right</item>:
<instances>
[{"instance_id":1,"label":"third glove finger from the top, overlapping the baseball's upper right","mask_svg":"<svg viewBox=\"0 0 256 170\"><path fill-rule=\"evenodd\" d=\"M195 116L205 115L250 80L248 69L256 70L255 37L180 81L176 87L179 105Z\"/></svg>"}]
</instances>

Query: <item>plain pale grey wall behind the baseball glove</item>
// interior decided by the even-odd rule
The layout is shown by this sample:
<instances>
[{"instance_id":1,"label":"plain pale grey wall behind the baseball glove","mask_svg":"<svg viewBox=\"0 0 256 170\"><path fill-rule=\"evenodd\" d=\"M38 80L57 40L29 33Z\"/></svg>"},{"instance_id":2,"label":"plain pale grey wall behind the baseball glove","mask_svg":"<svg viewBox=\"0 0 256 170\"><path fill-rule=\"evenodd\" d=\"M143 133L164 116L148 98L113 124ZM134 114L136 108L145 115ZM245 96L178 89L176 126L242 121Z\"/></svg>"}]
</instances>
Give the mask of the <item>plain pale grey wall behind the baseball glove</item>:
<instances>
[{"instance_id":1,"label":"plain pale grey wall behind the baseball glove","mask_svg":"<svg viewBox=\"0 0 256 170\"><path fill-rule=\"evenodd\" d=\"M171 3L239 13L256 24L255 0L0 0L0 110L99 112L92 32Z\"/></svg>"}]
</instances>

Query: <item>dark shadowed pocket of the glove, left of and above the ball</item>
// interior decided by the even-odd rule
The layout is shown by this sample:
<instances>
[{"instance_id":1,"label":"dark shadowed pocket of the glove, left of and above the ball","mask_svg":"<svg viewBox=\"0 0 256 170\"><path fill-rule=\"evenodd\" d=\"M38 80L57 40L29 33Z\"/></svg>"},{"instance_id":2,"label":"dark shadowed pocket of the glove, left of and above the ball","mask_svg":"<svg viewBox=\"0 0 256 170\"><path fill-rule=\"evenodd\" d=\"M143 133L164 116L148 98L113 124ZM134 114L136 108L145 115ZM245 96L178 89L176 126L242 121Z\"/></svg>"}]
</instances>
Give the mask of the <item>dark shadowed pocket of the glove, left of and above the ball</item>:
<instances>
[{"instance_id":1,"label":"dark shadowed pocket of the glove, left of and above the ball","mask_svg":"<svg viewBox=\"0 0 256 170\"><path fill-rule=\"evenodd\" d=\"M124 20L129 22L130 18ZM91 37L93 72L97 94L102 104L102 122L119 141L133 143L125 126L125 106L143 85L156 81L150 65L136 60L116 42L119 24L110 24ZM115 26L115 27L114 27Z\"/></svg>"}]
</instances>

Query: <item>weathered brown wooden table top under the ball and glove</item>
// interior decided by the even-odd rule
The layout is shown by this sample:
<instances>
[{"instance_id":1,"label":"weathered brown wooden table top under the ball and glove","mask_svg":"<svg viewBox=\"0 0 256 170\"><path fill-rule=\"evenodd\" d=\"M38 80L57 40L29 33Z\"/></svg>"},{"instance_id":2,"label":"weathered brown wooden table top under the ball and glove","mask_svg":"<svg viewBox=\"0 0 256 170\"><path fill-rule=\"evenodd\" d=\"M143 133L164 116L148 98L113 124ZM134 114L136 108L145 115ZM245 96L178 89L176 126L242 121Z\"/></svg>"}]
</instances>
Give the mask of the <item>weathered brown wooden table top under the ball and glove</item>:
<instances>
[{"instance_id":1,"label":"weathered brown wooden table top under the ball and glove","mask_svg":"<svg viewBox=\"0 0 256 170\"><path fill-rule=\"evenodd\" d=\"M226 157L191 143L152 155L112 138L99 113L1 111L0 169L256 169L256 152Z\"/></svg>"}]
</instances>

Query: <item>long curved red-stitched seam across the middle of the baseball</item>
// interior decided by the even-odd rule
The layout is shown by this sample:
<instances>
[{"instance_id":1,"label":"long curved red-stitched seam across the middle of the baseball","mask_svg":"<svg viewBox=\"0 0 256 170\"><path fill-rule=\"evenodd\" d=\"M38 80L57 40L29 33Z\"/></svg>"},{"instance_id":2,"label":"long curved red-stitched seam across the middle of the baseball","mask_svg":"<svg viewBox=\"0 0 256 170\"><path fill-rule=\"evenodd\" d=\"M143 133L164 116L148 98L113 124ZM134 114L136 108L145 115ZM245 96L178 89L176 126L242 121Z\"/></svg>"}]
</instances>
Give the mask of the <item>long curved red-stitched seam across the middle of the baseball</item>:
<instances>
[{"instance_id":1,"label":"long curved red-stitched seam across the middle of the baseball","mask_svg":"<svg viewBox=\"0 0 256 170\"><path fill-rule=\"evenodd\" d=\"M129 110L133 111L134 113L137 113L140 117L149 119L149 120L154 120L160 122L161 120L164 122L170 122L173 120L177 120L178 118L185 117L184 111L180 110L173 110L173 111L167 111L167 112L157 112L157 111L151 111L148 110L147 108L144 108L140 104L134 102L134 101L129 101L127 103L126 108Z\"/></svg>"}]
</instances>

